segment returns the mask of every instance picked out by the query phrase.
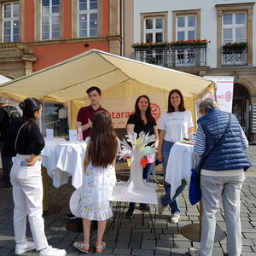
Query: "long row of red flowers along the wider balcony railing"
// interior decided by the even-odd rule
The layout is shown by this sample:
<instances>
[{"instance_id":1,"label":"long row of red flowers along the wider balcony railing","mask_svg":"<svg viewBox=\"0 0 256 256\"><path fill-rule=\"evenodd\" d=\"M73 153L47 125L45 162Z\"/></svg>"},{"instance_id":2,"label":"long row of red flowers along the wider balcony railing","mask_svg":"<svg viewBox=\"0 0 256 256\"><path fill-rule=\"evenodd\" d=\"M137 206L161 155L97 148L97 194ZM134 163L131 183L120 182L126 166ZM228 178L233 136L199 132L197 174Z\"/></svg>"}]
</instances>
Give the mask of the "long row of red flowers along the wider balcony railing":
<instances>
[{"instance_id":1,"label":"long row of red flowers along the wider balcony railing","mask_svg":"<svg viewBox=\"0 0 256 256\"><path fill-rule=\"evenodd\" d=\"M163 42L163 43L135 43L131 44L132 48L157 48L157 47L172 47L172 46L194 46L194 45L206 45L211 43L207 39L198 39L198 40L179 40L179 41L172 41L172 42Z\"/></svg>"}]
</instances>

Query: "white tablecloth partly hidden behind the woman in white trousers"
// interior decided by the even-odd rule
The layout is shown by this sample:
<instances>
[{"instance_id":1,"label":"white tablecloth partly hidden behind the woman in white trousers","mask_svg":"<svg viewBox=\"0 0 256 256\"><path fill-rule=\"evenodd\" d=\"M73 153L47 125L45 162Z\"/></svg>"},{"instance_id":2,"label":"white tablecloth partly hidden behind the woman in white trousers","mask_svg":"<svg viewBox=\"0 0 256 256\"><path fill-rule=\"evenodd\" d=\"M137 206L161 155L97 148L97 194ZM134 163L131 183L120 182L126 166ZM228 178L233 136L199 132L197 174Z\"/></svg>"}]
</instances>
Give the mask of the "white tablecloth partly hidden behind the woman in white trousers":
<instances>
[{"instance_id":1,"label":"white tablecloth partly hidden behind the woman in white trousers","mask_svg":"<svg viewBox=\"0 0 256 256\"><path fill-rule=\"evenodd\" d=\"M48 140L47 138L44 138L44 149L41 152L42 155L42 166L49 169L50 161L52 158L52 155L55 150L55 146L59 145L60 143L65 142L65 138L63 137L55 137L51 140ZM52 177L51 177L52 178Z\"/></svg>"}]
</instances>

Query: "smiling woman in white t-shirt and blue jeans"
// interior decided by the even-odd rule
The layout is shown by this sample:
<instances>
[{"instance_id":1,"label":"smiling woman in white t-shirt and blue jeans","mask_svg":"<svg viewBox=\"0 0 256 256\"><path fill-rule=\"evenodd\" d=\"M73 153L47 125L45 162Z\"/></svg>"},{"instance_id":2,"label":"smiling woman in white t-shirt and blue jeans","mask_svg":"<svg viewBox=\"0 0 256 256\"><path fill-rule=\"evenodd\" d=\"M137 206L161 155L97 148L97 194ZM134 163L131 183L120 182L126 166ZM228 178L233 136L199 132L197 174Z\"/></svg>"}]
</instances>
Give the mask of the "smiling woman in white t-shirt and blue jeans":
<instances>
[{"instance_id":1,"label":"smiling woman in white t-shirt and blue jeans","mask_svg":"<svg viewBox=\"0 0 256 256\"><path fill-rule=\"evenodd\" d=\"M184 137L189 137L193 129L192 115L184 108L183 95L180 90L171 90L168 97L168 111L163 114L160 123L159 148L157 158L162 162L164 177L166 179L166 166L171 148L174 143L181 141ZM180 187L171 201L171 185L165 181L165 195L161 195L158 201L158 212L162 214L164 208L171 207L171 223L177 223L180 218L180 208L178 206L177 195L179 195L186 185L183 179Z\"/></svg>"}]
</instances>

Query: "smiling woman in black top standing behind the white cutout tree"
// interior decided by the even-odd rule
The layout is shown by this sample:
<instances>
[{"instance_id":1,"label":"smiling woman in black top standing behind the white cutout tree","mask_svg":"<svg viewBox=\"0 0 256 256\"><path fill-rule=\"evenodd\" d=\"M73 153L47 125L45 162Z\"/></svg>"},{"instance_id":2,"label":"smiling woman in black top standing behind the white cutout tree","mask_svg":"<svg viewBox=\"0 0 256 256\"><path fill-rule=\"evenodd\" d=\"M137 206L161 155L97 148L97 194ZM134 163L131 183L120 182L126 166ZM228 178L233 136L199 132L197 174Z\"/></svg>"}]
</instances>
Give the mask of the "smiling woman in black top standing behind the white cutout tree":
<instances>
[{"instance_id":1,"label":"smiling woman in black top standing behind the white cutout tree","mask_svg":"<svg viewBox=\"0 0 256 256\"><path fill-rule=\"evenodd\" d=\"M127 121L127 133L136 132L137 136L141 131L144 131L146 134L149 132L149 135L155 135L154 146L158 146L158 131L155 119L151 113L150 101L148 96L142 95L137 98L135 102L135 113L132 113ZM148 158L148 164L143 168L143 179L146 182L149 181L150 172L152 168L154 157ZM131 202L129 204L128 211L126 212L126 218L132 218L133 212L136 207L136 203ZM143 212L148 212L148 205L141 203L140 209Z\"/></svg>"}]
</instances>

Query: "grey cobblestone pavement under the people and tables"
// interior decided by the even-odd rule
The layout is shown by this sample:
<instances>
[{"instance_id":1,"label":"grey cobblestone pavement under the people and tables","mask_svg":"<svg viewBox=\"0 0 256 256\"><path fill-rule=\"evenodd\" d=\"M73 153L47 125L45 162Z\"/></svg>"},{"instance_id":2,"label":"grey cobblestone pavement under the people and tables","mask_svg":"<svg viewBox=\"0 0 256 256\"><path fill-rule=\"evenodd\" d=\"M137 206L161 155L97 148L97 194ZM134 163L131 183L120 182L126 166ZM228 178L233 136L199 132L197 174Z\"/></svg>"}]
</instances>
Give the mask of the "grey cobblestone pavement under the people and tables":
<instances>
[{"instance_id":1,"label":"grey cobblestone pavement under the people and tables","mask_svg":"<svg viewBox=\"0 0 256 256\"><path fill-rule=\"evenodd\" d=\"M243 237L242 256L256 255L256 146L250 146L247 151L249 158L253 161L253 166L246 172L247 179L243 184L241 192L241 226ZM67 255L78 256L79 253L73 248L73 241L82 241L82 233L68 231L65 228L67 220L65 215L69 212L68 201L73 193L73 187L70 184L55 189L51 185L49 178L49 203L61 205L62 210L55 215L44 216L45 233L49 244L54 247L65 248ZM199 243L189 241L181 233L180 229L187 224L199 222L199 206L191 206L188 201L188 189L179 198L181 207L181 218L178 224L168 222L170 212L165 210L162 216L157 215L156 206L151 206L155 218L154 227L157 240L155 240L152 224L150 224L148 213L145 213L144 224L141 213L136 210L135 218L123 218L119 230L119 236L116 238L116 230L110 229L104 236L107 242L107 249L102 254L105 255L189 255L189 247L198 247ZM15 238L13 228L13 201L11 190L0 190L0 256L15 255ZM108 221L108 225L112 220ZM224 222L224 212L220 209L218 213L218 227L226 230ZM30 229L27 226L27 236L32 240ZM94 255L93 245L95 243L96 232L92 235L92 248L87 255ZM226 239L214 244L213 256L224 255ZM38 255L36 251L24 253L23 255Z\"/></svg>"}]
</instances>

